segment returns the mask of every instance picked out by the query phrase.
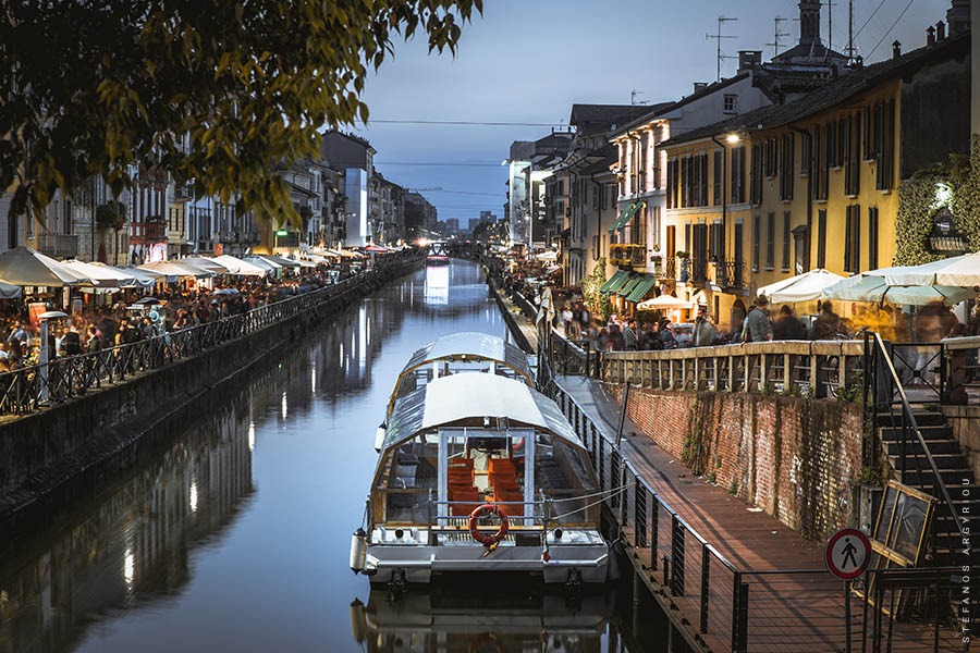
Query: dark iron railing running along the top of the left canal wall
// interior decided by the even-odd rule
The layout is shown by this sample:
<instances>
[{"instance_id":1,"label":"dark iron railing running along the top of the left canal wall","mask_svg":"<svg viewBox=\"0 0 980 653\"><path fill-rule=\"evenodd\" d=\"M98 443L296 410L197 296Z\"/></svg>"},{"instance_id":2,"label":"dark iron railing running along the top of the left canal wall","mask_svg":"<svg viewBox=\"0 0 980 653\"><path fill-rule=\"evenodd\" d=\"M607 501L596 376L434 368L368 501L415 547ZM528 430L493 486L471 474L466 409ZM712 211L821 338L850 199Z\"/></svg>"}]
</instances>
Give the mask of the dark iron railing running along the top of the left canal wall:
<instances>
[{"instance_id":1,"label":"dark iron railing running along the top of the left canal wall","mask_svg":"<svg viewBox=\"0 0 980 653\"><path fill-rule=\"evenodd\" d=\"M391 262L381 259L372 272L380 273L404 261L403 256ZM0 373L0 415L33 412L196 356L353 293L368 283L372 272L260 306L243 315Z\"/></svg>"}]
</instances>

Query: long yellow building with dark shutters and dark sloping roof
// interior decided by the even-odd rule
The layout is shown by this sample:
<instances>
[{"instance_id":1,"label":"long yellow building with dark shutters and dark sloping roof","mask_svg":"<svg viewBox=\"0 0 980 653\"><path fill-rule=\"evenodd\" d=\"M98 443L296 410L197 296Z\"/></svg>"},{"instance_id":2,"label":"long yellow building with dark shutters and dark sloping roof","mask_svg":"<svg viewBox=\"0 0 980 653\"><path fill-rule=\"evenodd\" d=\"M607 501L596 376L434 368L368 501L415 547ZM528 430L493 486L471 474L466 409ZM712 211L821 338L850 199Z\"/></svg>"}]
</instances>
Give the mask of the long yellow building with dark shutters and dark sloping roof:
<instances>
[{"instance_id":1,"label":"long yellow building with dark shutters and dark sloping roof","mask_svg":"<svg viewBox=\"0 0 980 653\"><path fill-rule=\"evenodd\" d=\"M727 329L774 281L892 264L899 183L969 149L969 34L896 47L800 100L665 141L667 288Z\"/></svg>"}]
</instances>

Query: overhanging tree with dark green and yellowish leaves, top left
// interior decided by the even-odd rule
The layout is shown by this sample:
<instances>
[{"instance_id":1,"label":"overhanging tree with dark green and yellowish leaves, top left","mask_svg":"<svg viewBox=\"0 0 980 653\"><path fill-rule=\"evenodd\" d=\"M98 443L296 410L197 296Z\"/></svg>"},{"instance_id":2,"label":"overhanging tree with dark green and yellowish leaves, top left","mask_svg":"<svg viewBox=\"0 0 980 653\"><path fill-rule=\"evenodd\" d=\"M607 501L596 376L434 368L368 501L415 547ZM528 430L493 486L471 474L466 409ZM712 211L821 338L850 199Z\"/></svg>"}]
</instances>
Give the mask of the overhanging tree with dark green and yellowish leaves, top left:
<instances>
[{"instance_id":1,"label":"overhanging tree with dark green and yellowish leaves, top left","mask_svg":"<svg viewBox=\"0 0 980 653\"><path fill-rule=\"evenodd\" d=\"M164 170L295 220L280 161L367 121L365 78L392 39L455 53L482 0L8 0L0 20L0 189L39 211L101 175Z\"/></svg>"}]
</instances>

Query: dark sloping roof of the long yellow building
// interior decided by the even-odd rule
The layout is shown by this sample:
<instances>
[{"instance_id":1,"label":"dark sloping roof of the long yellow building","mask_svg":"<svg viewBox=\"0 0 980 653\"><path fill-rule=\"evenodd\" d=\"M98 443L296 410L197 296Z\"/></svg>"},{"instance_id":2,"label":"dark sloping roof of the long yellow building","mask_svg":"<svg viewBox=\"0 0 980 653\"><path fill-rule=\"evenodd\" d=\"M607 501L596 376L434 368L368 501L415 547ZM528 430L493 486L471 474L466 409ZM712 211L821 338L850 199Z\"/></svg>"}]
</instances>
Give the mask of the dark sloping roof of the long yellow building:
<instances>
[{"instance_id":1,"label":"dark sloping roof of the long yellow building","mask_svg":"<svg viewBox=\"0 0 980 653\"><path fill-rule=\"evenodd\" d=\"M673 136L669 140L664 140L661 146L670 147L701 138L710 138L711 136L735 130L757 131L785 125L786 123L831 109L859 93L904 77L936 61L966 53L969 51L969 47L970 36L968 32L955 37L947 37L934 46L922 47L918 50L906 52L898 58L855 69L787 104L770 104L748 113L742 113L727 120L705 125L703 127Z\"/></svg>"}]
</instances>

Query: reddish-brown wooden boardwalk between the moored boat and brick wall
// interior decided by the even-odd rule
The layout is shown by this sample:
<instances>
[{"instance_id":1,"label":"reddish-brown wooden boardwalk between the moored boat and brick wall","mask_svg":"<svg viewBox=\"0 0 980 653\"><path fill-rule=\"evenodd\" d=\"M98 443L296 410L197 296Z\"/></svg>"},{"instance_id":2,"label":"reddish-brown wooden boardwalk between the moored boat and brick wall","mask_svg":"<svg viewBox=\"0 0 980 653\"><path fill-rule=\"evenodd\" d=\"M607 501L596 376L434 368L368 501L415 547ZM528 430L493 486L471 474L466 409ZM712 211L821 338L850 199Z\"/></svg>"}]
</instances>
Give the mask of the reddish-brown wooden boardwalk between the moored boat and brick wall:
<instances>
[{"instance_id":1,"label":"reddish-brown wooden boardwalk between the moored boat and brick wall","mask_svg":"<svg viewBox=\"0 0 980 653\"><path fill-rule=\"evenodd\" d=\"M595 424L599 435L613 442L620 407L602 392L598 382L583 377L559 377L555 382ZM578 426L578 417L573 417L573 424ZM628 557L689 644L701 651L732 650L734 587L742 582L748 584L748 651L845 651L844 583L825 571L822 547L724 489L698 478L644 435L628 418L623 432L620 451L633 470L647 481L663 506L669 506L731 566L706 555L708 582L703 583L706 547L690 533L681 540L678 547L671 516L663 507L657 519L659 528L654 529L651 514L656 514L650 506L658 502L649 492L627 490L623 497L625 505L612 505L611 512L621 522ZM629 476L627 471L623 478L628 482ZM610 486L617 484L610 483ZM669 582L676 583L676 579L671 581L664 577L665 556L671 558L671 568L679 565L681 592L676 584L674 591L667 587ZM708 604L702 612L706 584ZM854 651L862 650L862 608L863 603L852 597ZM702 614L707 624L701 623ZM931 651L932 637L930 628L896 623L891 650ZM967 650L952 630L943 630L941 640L942 651ZM882 642L882 646L885 644ZM870 639L867 646L868 651L873 650Z\"/></svg>"}]
</instances>

